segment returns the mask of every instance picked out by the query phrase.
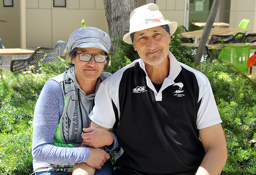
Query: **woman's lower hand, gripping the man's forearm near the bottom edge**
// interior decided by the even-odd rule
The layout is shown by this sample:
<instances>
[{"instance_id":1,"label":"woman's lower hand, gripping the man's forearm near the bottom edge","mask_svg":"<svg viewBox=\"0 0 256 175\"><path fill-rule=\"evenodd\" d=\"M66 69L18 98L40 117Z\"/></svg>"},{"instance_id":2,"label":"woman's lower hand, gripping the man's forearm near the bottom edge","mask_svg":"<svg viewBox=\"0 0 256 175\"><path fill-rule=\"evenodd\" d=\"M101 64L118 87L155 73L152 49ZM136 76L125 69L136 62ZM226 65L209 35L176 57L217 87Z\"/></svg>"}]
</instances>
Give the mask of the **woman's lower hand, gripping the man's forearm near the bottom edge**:
<instances>
[{"instance_id":1,"label":"woman's lower hand, gripping the man's forearm near the bottom edge","mask_svg":"<svg viewBox=\"0 0 256 175\"><path fill-rule=\"evenodd\" d=\"M110 155L101 148L90 148L90 151L86 164L100 170L101 166L110 158Z\"/></svg>"}]
</instances>

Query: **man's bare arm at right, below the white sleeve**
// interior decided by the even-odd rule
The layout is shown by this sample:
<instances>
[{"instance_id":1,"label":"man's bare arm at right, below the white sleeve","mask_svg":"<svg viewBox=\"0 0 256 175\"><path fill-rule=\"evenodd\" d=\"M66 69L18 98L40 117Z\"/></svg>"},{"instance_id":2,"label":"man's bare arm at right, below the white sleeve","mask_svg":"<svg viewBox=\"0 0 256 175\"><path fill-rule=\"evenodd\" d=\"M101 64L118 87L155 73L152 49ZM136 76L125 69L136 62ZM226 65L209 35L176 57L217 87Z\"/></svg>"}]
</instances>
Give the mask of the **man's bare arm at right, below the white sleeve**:
<instances>
[{"instance_id":1,"label":"man's bare arm at right, below the white sleeve","mask_svg":"<svg viewBox=\"0 0 256 175\"><path fill-rule=\"evenodd\" d=\"M227 160L227 145L221 124L199 129L206 155L196 175L219 175Z\"/></svg>"}]
</instances>

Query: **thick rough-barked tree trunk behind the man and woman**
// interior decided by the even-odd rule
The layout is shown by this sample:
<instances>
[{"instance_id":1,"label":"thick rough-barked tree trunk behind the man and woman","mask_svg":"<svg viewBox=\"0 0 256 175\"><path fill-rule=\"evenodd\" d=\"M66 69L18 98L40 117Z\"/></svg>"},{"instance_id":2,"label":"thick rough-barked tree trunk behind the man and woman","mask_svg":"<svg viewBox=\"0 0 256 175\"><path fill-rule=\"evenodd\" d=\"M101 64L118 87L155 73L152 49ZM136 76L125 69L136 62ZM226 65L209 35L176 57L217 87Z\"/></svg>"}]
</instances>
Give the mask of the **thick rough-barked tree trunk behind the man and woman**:
<instances>
[{"instance_id":1,"label":"thick rough-barked tree trunk behind the man and woman","mask_svg":"<svg viewBox=\"0 0 256 175\"><path fill-rule=\"evenodd\" d=\"M111 39L122 39L129 32L129 21L132 10L146 4L146 0L103 0L103 2ZM120 42L112 42L110 49L111 55L115 53L119 45Z\"/></svg>"}]
</instances>

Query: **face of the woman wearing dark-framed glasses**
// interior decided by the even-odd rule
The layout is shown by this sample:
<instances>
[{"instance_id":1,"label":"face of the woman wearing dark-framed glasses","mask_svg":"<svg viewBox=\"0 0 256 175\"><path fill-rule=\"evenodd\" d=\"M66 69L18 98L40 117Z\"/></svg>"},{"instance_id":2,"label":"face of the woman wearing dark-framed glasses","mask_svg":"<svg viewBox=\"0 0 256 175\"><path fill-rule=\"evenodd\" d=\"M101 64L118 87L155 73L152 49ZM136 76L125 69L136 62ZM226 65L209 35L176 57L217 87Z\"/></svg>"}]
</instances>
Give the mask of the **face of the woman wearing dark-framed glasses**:
<instances>
[{"instance_id":1,"label":"face of the woman wearing dark-framed glasses","mask_svg":"<svg viewBox=\"0 0 256 175\"><path fill-rule=\"evenodd\" d=\"M105 55L105 51L97 48L78 48L77 53ZM90 61L81 61L79 60L78 54L76 54L72 63L75 65L75 75L78 84L81 82L96 81L105 66L105 62L95 62L94 57Z\"/></svg>"}]
</instances>

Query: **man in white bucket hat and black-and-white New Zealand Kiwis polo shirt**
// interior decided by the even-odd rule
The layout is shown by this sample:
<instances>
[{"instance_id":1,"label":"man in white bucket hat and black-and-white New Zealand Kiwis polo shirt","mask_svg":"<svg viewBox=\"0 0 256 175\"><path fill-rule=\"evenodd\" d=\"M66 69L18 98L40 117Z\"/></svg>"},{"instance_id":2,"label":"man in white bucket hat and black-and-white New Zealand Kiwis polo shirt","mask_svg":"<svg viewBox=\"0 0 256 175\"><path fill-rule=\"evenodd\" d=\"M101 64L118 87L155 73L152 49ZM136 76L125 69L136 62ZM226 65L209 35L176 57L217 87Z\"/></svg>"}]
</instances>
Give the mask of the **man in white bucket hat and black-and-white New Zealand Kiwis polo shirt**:
<instances>
[{"instance_id":1,"label":"man in white bucket hat and black-and-white New Zealand Kiwis polo shirt","mask_svg":"<svg viewBox=\"0 0 256 175\"><path fill-rule=\"evenodd\" d=\"M123 40L141 58L108 77L96 93L91 127L117 128L116 175L218 175L226 162L222 121L207 77L169 51L176 29L177 22L166 22L155 4L132 11ZM95 139L105 131L86 132L87 145L109 145Z\"/></svg>"}]
</instances>

